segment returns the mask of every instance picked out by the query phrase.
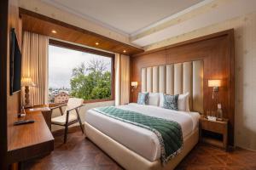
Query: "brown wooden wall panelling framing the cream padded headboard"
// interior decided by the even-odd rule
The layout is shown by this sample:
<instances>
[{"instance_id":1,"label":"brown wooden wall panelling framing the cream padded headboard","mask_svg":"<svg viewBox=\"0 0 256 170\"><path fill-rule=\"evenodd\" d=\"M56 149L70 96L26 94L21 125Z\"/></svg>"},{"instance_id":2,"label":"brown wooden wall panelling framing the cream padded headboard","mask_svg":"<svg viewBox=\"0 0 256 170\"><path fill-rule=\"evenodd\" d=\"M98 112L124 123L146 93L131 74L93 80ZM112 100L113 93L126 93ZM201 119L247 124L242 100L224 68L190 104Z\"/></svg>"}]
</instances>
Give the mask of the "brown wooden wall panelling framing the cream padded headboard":
<instances>
[{"instance_id":1,"label":"brown wooden wall panelling framing the cream padded headboard","mask_svg":"<svg viewBox=\"0 0 256 170\"><path fill-rule=\"evenodd\" d=\"M224 117L229 119L229 144L234 145L235 57L233 29L133 55L131 57L131 82L138 82L138 87L131 91L131 102L137 102L137 94L142 90L141 71L143 68L192 60L203 60L204 63L203 110L204 112L216 111L217 104L222 104ZM212 99L212 88L208 87L210 79L221 80L217 99Z\"/></svg>"}]
</instances>

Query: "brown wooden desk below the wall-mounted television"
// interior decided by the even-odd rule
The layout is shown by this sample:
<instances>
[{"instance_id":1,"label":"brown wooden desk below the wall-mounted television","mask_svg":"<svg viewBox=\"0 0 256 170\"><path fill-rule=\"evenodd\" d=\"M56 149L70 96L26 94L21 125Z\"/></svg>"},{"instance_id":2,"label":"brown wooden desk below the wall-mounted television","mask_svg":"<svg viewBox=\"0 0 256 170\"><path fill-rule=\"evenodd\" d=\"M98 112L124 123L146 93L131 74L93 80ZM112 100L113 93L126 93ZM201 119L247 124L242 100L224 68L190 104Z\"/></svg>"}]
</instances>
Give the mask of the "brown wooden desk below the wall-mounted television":
<instances>
[{"instance_id":1,"label":"brown wooden desk below the wall-mounted television","mask_svg":"<svg viewBox=\"0 0 256 170\"><path fill-rule=\"evenodd\" d=\"M14 122L23 119L32 119L35 122L14 125ZM53 150L54 138L41 111L26 112L25 117L12 117L8 128L9 162L23 161L37 156L40 152Z\"/></svg>"}]
</instances>

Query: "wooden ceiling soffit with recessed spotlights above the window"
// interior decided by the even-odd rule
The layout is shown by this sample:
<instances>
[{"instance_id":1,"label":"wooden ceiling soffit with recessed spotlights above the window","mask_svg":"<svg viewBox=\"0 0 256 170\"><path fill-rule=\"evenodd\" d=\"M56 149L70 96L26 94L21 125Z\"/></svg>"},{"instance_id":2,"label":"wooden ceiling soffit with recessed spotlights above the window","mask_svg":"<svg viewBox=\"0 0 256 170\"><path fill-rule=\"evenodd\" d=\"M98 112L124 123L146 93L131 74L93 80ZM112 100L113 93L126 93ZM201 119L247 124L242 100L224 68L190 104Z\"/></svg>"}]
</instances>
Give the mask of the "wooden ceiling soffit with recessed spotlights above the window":
<instances>
[{"instance_id":1,"label":"wooden ceiling soffit with recessed spotlights above the window","mask_svg":"<svg viewBox=\"0 0 256 170\"><path fill-rule=\"evenodd\" d=\"M142 48L137 48L130 44L104 37L95 32L79 28L78 26L67 24L61 20L55 20L25 8L19 9L24 31L32 31L67 42L83 44L92 48L100 48L118 54L132 55L144 51ZM52 30L55 30L56 33L52 33ZM96 42L99 44L96 45ZM126 51L125 53L124 50Z\"/></svg>"}]
</instances>

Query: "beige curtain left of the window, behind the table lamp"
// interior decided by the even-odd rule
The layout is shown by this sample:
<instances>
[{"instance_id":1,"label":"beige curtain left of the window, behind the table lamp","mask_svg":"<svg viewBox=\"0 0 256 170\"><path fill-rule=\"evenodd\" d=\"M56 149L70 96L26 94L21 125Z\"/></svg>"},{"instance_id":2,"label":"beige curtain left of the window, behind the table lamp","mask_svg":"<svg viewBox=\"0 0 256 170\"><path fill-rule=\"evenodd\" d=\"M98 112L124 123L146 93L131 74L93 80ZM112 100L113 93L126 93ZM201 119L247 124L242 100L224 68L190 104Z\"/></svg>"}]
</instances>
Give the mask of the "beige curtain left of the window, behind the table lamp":
<instances>
[{"instance_id":1,"label":"beige curtain left of the window, behind the table lamp","mask_svg":"<svg viewBox=\"0 0 256 170\"><path fill-rule=\"evenodd\" d=\"M49 37L24 32L22 77L32 77L32 82L36 84L36 87L30 88L31 105L48 103L48 46Z\"/></svg>"}]
</instances>

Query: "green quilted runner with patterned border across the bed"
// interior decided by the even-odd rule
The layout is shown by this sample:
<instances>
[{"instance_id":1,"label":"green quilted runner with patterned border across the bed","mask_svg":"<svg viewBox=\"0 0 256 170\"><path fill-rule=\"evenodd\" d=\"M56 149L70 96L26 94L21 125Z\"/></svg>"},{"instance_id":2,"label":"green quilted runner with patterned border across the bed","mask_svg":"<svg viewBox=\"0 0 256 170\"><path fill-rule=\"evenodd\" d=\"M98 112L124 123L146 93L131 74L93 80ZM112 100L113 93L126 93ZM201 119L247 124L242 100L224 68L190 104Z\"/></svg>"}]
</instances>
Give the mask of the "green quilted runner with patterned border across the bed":
<instances>
[{"instance_id":1,"label":"green quilted runner with patterned border across the bed","mask_svg":"<svg viewBox=\"0 0 256 170\"><path fill-rule=\"evenodd\" d=\"M156 134L160 141L161 161L166 163L183 149L182 128L177 122L126 111L114 106L95 108L95 111L122 122L144 127Z\"/></svg>"}]
</instances>

